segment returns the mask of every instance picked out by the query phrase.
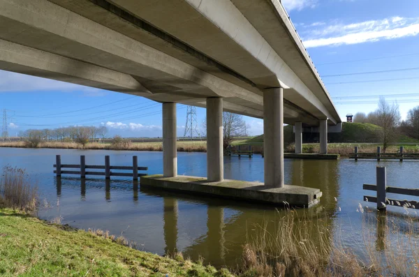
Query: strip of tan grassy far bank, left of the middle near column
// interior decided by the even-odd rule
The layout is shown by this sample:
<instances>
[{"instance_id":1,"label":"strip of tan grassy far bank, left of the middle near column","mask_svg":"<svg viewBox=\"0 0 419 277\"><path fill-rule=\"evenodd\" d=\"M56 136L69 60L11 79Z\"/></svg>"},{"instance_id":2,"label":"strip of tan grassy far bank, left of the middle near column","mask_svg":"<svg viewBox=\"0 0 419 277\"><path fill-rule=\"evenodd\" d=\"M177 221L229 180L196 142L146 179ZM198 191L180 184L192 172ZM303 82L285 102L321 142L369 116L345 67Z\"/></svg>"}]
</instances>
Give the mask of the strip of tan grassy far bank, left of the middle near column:
<instances>
[{"instance_id":1,"label":"strip of tan grassy far bank, left of the middle near column","mask_svg":"<svg viewBox=\"0 0 419 277\"><path fill-rule=\"evenodd\" d=\"M29 148L25 142L0 142L0 147ZM37 148L52 149L105 149L105 150L131 150L131 151L163 151L162 142L133 142L122 145L91 142L84 147L75 142L41 142ZM177 142L179 152L206 152L207 142Z\"/></svg>"}]
</instances>

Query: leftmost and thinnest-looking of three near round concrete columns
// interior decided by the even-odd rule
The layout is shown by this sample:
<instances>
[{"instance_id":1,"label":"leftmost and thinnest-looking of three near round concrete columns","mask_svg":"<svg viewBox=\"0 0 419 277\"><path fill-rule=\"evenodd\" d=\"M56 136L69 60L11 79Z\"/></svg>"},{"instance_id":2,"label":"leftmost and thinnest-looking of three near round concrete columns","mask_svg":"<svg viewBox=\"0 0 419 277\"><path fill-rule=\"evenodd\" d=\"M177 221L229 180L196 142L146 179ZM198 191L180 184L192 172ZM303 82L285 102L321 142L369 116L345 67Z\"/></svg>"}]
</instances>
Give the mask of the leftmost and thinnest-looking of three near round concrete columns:
<instances>
[{"instance_id":1,"label":"leftmost and thinnest-looking of three near round concrete columns","mask_svg":"<svg viewBox=\"0 0 419 277\"><path fill-rule=\"evenodd\" d=\"M163 176L177 176L176 103L163 103Z\"/></svg>"}]
</instances>

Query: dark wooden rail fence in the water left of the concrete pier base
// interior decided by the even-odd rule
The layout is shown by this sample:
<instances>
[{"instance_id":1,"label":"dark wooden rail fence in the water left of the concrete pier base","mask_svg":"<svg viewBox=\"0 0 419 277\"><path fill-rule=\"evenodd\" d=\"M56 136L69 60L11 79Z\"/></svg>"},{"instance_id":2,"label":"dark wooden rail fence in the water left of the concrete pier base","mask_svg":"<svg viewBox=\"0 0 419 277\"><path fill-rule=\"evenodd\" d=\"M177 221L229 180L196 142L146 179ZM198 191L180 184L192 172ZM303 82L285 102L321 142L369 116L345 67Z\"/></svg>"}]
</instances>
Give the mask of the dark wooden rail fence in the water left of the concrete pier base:
<instances>
[{"instance_id":1,"label":"dark wooden rail fence in the water left of the concrete pier base","mask_svg":"<svg viewBox=\"0 0 419 277\"><path fill-rule=\"evenodd\" d=\"M52 165L56 168L54 173L57 174L57 177L61 177L61 174L78 174L81 178L85 178L86 175L97 175L105 176L106 179L110 179L111 176L119 177L133 177L134 180L138 179L140 176L147 175L146 173L138 173L138 171L148 170L148 167L139 167L137 156L133 156L133 165L132 166L121 166L121 165L110 165L110 156L105 156L105 165L86 165L85 156L80 156L80 165L62 165L61 156L56 156L56 163ZM80 171L76 170L61 170L61 168L80 168ZM97 171L86 171L86 169L94 170L105 170L105 172ZM130 170L132 172L112 172L111 170Z\"/></svg>"}]
</instances>

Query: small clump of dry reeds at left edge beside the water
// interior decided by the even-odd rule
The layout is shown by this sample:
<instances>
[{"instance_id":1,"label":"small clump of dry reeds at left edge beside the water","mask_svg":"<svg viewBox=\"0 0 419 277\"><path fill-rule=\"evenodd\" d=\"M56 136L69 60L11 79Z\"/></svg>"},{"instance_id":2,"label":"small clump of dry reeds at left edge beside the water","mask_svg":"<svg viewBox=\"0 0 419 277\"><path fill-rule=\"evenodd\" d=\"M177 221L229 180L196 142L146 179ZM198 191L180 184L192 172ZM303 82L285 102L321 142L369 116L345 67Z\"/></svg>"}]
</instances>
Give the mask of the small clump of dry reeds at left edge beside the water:
<instances>
[{"instance_id":1,"label":"small clump of dry reeds at left edge beside the water","mask_svg":"<svg viewBox=\"0 0 419 277\"><path fill-rule=\"evenodd\" d=\"M0 181L0 205L22 211L36 211L38 187L20 168L3 167Z\"/></svg>"}]
</instances>

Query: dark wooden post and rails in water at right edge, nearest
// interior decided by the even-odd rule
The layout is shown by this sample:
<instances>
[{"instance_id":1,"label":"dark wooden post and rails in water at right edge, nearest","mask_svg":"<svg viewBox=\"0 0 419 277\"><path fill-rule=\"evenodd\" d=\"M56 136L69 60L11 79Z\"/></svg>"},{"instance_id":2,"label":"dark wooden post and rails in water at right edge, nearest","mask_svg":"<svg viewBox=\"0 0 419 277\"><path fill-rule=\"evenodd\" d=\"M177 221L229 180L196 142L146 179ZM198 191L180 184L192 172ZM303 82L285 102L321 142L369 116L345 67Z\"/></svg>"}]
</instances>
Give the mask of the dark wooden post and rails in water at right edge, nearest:
<instances>
[{"instance_id":1,"label":"dark wooden post and rails in water at right edge, nearest","mask_svg":"<svg viewBox=\"0 0 419 277\"><path fill-rule=\"evenodd\" d=\"M364 201L377 203L377 209L385 209L387 205L407 207L410 209L419 209L419 202L387 198L387 193L419 196L419 189L387 186L387 176L385 167L377 167L376 182L376 185L364 184L364 186L362 187L365 190L374 190L377 192L376 197L364 195Z\"/></svg>"}]
</instances>

